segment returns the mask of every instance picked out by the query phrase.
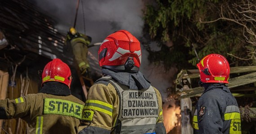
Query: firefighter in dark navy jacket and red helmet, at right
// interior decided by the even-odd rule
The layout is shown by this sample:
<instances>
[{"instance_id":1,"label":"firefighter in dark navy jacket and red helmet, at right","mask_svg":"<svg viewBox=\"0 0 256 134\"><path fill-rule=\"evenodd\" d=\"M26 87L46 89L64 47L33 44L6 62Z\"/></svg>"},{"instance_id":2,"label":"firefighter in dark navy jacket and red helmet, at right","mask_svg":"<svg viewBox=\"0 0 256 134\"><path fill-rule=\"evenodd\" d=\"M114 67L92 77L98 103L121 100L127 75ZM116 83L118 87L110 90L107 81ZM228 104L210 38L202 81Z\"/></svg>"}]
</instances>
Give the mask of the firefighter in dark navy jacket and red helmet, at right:
<instances>
[{"instance_id":1,"label":"firefighter in dark navy jacket and red helmet, at right","mask_svg":"<svg viewBox=\"0 0 256 134\"><path fill-rule=\"evenodd\" d=\"M220 54L205 56L197 67L204 88L193 117L195 134L241 134L238 104L228 84L230 65Z\"/></svg>"}]
</instances>

